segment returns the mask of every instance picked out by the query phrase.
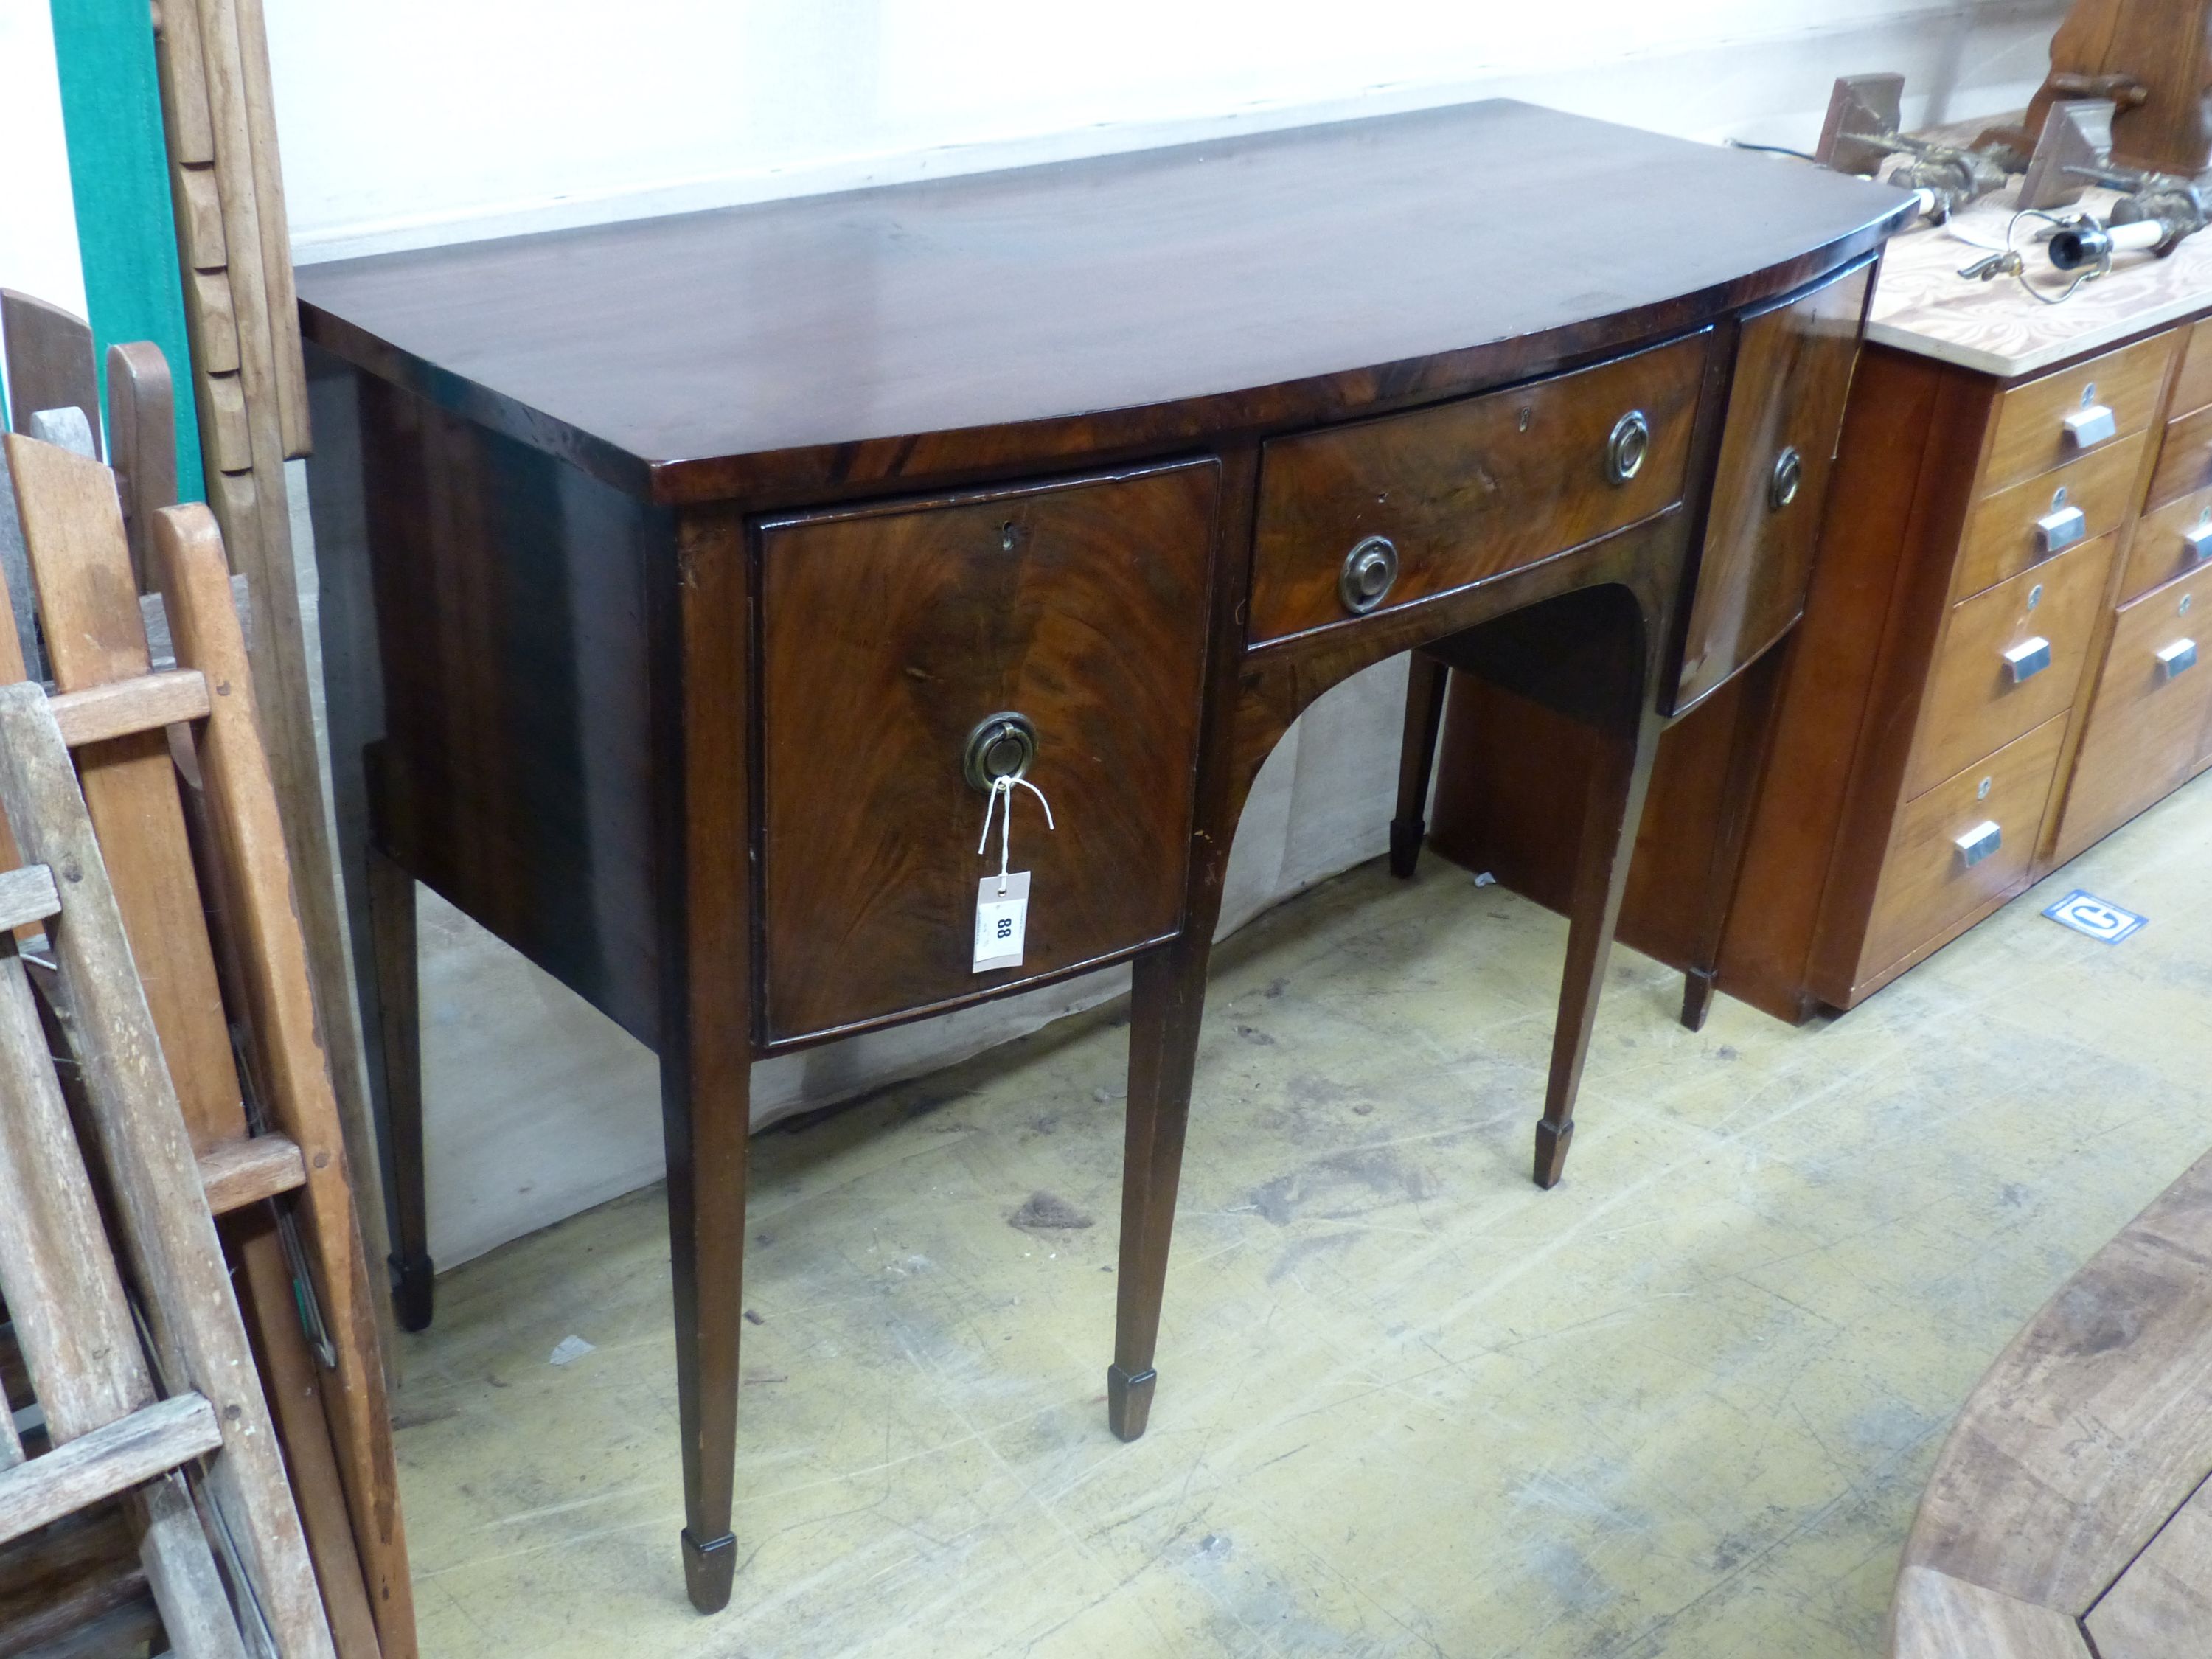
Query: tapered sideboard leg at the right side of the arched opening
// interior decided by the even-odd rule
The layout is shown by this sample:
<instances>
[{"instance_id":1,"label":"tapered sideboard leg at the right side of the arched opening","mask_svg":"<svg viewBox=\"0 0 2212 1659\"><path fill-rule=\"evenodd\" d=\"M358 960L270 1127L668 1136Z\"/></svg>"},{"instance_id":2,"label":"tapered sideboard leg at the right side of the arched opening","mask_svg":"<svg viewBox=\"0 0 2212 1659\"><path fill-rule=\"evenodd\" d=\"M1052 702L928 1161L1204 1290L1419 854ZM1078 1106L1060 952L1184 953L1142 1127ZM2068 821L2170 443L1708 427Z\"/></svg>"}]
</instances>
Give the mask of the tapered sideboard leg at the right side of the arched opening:
<instances>
[{"instance_id":1,"label":"tapered sideboard leg at the right side of the arched opening","mask_svg":"<svg viewBox=\"0 0 2212 1659\"><path fill-rule=\"evenodd\" d=\"M1566 1148L1575 1139L1575 1093L1582 1088L1582 1062L1590 1053L1597 995L1613 956L1613 927L1628 889L1661 726L1657 714L1646 714L1632 739L1610 732L1601 737L1590 792L1584 796L1575 900L1566 927L1566 978L1559 987L1559 1022L1551 1035L1551 1084L1544 1091L1544 1121L1535 1126L1535 1183L1544 1188L1559 1183Z\"/></svg>"}]
</instances>

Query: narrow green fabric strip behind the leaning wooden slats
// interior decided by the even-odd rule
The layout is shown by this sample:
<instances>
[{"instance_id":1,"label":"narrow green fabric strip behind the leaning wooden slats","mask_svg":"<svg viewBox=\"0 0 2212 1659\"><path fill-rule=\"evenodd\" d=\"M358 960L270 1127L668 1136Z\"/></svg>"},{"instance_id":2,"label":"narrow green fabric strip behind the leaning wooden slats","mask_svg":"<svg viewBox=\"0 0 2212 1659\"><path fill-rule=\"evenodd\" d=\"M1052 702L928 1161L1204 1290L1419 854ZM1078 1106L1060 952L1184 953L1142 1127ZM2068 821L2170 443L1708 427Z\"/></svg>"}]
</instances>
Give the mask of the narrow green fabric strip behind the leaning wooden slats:
<instances>
[{"instance_id":1,"label":"narrow green fabric strip behind the leaning wooden slats","mask_svg":"<svg viewBox=\"0 0 2212 1659\"><path fill-rule=\"evenodd\" d=\"M177 383L177 493L201 500L199 420L148 0L53 0L53 55L100 396L104 403L108 394L111 345L153 341L161 347Z\"/></svg>"}]
</instances>

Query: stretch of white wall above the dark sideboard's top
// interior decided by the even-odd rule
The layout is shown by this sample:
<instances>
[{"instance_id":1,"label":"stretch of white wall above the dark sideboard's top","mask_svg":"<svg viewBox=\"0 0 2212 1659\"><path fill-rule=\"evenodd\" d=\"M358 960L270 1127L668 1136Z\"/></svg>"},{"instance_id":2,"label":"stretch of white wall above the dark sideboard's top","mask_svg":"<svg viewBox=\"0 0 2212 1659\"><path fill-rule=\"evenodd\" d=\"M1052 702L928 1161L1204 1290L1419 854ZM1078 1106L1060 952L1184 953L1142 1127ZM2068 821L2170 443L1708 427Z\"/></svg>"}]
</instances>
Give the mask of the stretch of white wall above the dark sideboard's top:
<instances>
[{"instance_id":1,"label":"stretch of white wall above the dark sideboard's top","mask_svg":"<svg viewBox=\"0 0 2212 1659\"><path fill-rule=\"evenodd\" d=\"M13 0L0 0L13 2ZM2026 100L2064 0L268 0L299 257L1486 93L1807 144L1834 75Z\"/></svg>"}]
</instances>

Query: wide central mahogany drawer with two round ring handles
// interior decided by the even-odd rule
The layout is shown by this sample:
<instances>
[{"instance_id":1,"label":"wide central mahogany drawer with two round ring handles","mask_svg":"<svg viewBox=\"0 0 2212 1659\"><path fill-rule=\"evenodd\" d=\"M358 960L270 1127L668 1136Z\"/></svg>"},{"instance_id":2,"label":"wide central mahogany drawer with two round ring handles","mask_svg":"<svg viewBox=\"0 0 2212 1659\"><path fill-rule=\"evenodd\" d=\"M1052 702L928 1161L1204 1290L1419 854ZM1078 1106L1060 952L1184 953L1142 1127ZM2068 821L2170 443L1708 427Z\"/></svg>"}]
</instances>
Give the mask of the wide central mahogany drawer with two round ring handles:
<instances>
[{"instance_id":1,"label":"wide central mahogany drawer with two round ring handles","mask_svg":"<svg viewBox=\"0 0 2212 1659\"><path fill-rule=\"evenodd\" d=\"M1674 504L1708 341L1267 442L1248 637L1396 611ZM1615 480L1615 431L1635 414L1648 442ZM1385 560L1396 575L1369 597L1356 580L1378 584Z\"/></svg>"}]
</instances>

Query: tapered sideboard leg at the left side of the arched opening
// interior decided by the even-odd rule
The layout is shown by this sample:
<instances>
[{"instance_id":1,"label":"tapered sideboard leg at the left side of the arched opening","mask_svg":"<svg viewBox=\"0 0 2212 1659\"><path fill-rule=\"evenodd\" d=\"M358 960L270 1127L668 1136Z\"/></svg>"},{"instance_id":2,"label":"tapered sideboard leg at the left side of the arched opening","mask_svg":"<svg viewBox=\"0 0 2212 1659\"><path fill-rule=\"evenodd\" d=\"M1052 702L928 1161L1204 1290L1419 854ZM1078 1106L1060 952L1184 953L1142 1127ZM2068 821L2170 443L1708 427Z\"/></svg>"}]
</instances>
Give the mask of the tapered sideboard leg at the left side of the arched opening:
<instances>
[{"instance_id":1,"label":"tapered sideboard leg at the left side of the arched opening","mask_svg":"<svg viewBox=\"0 0 2212 1659\"><path fill-rule=\"evenodd\" d=\"M1183 1172L1190 1077L1199 1064L1212 929L1137 958L1128 1011L1128 1141L1121 1166L1121 1283L1115 1301L1106 1422L1121 1440L1152 1413L1152 1347L1168 1287L1175 1188Z\"/></svg>"}]
</instances>

